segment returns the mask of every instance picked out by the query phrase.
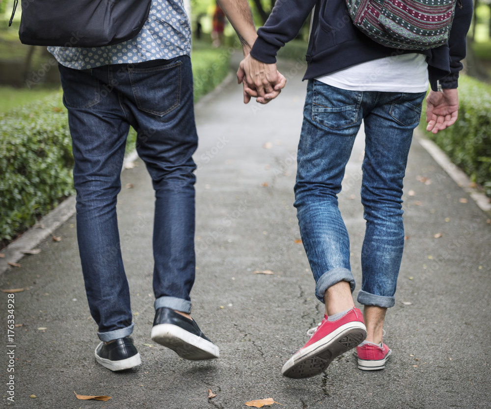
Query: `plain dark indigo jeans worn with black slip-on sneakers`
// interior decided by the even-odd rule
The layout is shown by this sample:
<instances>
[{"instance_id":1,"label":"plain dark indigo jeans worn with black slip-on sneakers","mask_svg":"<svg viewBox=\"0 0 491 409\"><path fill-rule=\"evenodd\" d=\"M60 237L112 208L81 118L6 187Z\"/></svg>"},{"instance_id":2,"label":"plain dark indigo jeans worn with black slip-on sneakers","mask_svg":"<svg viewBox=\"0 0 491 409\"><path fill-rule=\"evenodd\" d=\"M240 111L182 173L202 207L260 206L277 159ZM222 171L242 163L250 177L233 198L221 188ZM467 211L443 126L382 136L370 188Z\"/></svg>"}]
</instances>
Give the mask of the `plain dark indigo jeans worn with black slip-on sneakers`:
<instances>
[{"instance_id":1,"label":"plain dark indigo jeans worn with black slip-on sneakers","mask_svg":"<svg viewBox=\"0 0 491 409\"><path fill-rule=\"evenodd\" d=\"M77 236L87 300L102 341L133 331L116 196L130 126L155 190L155 308L190 312L197 147L189 56L89 70L60 66L73 140Z\"/></svg>"}]
</instances>

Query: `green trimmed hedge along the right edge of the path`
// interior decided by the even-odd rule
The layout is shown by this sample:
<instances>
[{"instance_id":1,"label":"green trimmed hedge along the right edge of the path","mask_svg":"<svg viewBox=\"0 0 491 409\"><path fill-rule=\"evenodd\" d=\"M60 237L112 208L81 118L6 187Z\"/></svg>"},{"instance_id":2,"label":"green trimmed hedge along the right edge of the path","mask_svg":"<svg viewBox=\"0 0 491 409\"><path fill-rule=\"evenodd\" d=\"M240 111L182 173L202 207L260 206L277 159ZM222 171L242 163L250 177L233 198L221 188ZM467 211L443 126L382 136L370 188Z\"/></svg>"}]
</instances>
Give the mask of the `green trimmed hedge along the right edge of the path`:
<instances>
[{"instance_id":1,"label":"green trimmed hedge along the right edge of the path","mask_svg":"<svg viewBox=\"0 0 491 409\"><path fill-rule=\"evenodd\" d=\"M426 123L422 121L422 127ZM468 76L459 79L457 122L430 139L491 196L491 86Z\"/></svg>"}]
</instances>

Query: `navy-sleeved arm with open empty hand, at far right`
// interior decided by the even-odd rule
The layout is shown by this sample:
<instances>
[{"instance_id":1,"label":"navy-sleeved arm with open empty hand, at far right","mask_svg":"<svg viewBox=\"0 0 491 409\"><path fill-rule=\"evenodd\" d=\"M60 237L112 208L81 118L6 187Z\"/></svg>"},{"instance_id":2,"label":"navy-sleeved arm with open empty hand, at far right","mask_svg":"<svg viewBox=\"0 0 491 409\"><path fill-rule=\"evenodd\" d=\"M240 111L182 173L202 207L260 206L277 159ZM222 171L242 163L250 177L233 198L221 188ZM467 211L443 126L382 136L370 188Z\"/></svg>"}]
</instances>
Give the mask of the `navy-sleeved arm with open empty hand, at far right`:
<instances>
[{"instance_id":1,"label":"navy-sleeved arm with open empty hand, at far right","mask_svg":"<svg viewBox=\"0 0 491 409\"><path fill-rule=\"evenodd\" d=\"M448 39L450 74L442 78L432 76L431 89L426 97L426 130L433 134L443 131L457 121L459 96L457 91L459 72L465 57L465 41L472 18L472 0L459 0Z\"/></svg>"}]
</instances>

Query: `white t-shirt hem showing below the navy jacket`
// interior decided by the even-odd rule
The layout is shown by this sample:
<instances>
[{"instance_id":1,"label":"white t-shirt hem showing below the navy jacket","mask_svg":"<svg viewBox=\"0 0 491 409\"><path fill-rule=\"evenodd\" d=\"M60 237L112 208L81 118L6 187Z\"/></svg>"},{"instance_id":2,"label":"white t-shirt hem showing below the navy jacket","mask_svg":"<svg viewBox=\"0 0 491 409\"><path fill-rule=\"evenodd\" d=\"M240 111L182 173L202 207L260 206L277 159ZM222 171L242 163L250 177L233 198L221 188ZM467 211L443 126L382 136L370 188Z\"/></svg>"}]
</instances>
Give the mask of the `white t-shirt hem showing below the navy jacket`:
<instances>
[{"instance_id":1,"label":"white t-shirt hem showing below the navy jacket","mask_svg":"<svg viewBox=\"0 0 491 409\"><path fill-rule=\"evenodd\" d=\"M351 91L424 92L428 89L428 64L422 54L394 55L362 62L316 80Z\"/></svg>"}]
</instances>

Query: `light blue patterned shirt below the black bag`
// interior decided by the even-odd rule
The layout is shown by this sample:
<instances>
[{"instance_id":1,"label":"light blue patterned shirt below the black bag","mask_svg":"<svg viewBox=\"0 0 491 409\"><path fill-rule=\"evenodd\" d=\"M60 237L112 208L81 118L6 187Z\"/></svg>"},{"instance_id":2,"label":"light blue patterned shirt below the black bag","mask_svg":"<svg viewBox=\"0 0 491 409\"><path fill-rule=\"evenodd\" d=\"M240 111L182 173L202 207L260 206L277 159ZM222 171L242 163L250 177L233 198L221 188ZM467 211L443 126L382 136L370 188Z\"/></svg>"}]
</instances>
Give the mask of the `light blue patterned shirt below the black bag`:
<instances>
[{"instance_id":1,"label":"light blue patterned shirt below the black bag","mask_svg":"<svg viewBox=\"0 0 491 409\"><path fill-rule=\"evenodd\" d=\"M191 27L183 0L153 0L138 35L105 47L48 47L65 67L84 70L109 64L170 59L191 53Z\"/></svg>"}]
</instances>

